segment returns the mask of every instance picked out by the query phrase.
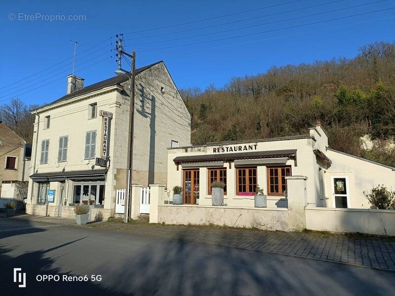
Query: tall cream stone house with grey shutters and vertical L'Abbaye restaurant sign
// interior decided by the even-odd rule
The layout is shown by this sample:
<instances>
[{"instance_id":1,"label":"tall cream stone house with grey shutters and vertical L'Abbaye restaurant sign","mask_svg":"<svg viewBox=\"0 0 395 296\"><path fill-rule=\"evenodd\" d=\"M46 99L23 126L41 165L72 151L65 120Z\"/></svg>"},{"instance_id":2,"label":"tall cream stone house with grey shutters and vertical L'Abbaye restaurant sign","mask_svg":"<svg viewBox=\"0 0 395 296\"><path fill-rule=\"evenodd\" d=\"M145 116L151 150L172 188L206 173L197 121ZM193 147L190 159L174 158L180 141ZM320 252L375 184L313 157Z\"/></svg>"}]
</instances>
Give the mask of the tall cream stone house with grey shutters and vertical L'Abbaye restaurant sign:
<instances>
[{"instance_id":1,"label":"tall cream stone house with grey shutters and vertical L'Abbaye restaurant sign","mask_svg":"<svg viewBox=\"0 0 395 296\"><path fill-rule=\"evenodd\" d=\"M104 219L114 215L116 191L126 187L129 80L83 87L82 78L69 75L66 96L32 111L27 213L74 217L81 203ZM191 116L162 61L136 69L134 109L132 183L164 184L166 148L190 145ZM97 157L108 157L109 167L95 165Z\"/></svg>"}]
</instances>

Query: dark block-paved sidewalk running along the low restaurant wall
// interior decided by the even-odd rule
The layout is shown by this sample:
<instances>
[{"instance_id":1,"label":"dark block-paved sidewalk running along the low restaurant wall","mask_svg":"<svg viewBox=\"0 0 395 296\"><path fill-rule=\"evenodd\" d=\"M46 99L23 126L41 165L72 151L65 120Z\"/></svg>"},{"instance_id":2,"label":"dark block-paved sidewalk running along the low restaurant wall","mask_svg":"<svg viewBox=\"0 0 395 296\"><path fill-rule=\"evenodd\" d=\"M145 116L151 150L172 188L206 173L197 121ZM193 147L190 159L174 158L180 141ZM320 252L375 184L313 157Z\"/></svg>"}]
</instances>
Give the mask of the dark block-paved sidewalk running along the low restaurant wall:
<instances>
[{"instance_id":1,"label":"dark block-paved sidewalk running along the low restaurant wall","mask_svg":"<svg viewBox=\"0 0 395 296\"><path fill-rule=\"evenodd\" d=\"M394 237L121 222L86 226L395 271Z\"/></svg>"}]
</instances>

